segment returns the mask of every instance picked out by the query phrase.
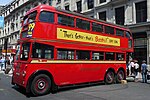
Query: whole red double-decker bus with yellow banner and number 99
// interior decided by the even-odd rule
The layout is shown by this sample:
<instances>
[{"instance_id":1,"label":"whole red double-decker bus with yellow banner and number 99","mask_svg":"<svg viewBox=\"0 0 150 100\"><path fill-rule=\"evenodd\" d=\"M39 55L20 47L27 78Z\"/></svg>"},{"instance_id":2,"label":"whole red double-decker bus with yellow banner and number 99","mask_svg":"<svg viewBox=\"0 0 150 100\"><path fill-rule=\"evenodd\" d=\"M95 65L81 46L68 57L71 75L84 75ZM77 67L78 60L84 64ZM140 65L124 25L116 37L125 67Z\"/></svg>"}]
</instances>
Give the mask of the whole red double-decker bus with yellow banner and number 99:
<instances>
[{"instance_id":1,"label":"whole red double-decker bus with yellow banner and number 99","mask_svg":"<svg viewBox=\"0 0 150 100\"><path fill-rule=\"evenodd\" d=\"M123 26L37 6L23 19L12 84L34 95L58 87L126 79L127 55L133 52L130 30Z\"/></svg>"}]
</instances>

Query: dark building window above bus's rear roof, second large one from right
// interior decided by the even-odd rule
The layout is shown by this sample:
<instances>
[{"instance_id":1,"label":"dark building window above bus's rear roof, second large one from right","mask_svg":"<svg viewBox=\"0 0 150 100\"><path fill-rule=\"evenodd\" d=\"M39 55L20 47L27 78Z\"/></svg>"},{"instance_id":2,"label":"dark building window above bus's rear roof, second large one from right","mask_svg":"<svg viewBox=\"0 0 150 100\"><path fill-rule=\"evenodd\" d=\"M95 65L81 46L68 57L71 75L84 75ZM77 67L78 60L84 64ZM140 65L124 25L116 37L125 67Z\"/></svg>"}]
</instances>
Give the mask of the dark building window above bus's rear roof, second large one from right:
<instances>
[{"instance_id":1,"label":"dark building window above bus's rear roof, second large one from right","mask_svg":"<svg viewBox=\"0 0 150 100\"><path fill-rule=\"evenodd\" d=\"M115 20L116 24L124 25L125 20L124 7L115 8Z\"/></svg>"}]
</instances>

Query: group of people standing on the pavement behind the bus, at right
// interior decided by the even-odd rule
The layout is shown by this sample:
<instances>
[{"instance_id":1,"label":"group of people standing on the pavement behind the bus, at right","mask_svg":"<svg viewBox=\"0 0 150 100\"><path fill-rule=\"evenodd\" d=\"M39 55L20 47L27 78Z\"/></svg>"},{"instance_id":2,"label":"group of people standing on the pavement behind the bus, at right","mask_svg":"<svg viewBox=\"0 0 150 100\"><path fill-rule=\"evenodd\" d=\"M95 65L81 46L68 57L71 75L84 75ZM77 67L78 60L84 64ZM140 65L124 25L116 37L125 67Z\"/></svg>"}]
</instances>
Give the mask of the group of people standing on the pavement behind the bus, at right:
<instances>
[{"instance_id":1,"label":"group of people standing on the pavement behind the bus, at right","mask_svg":"<svg viewBox=\"0 0 150 100\"><path fill-rule=\"evenodd\" d=\"M135 81L142 78L142 82L147 83L148 68L146 61L143 60L141 65L138 64L138 60L129 61L127 63L127 76L134 77Z\"/></svg>"}]
</instances>

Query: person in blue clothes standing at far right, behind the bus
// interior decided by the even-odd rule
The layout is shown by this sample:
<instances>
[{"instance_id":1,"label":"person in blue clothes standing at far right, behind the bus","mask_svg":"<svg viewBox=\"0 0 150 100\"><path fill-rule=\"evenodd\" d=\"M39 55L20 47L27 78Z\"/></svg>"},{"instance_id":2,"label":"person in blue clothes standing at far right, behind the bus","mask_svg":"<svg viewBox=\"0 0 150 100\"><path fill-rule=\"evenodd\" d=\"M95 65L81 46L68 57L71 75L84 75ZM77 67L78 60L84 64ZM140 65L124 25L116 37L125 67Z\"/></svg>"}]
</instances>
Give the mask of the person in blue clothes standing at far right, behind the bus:
<instances>
[{"instance_id":1,"label":"person in blue clothes standing at far right, behind the bus","mask_svg":"<svg viewBox=\"0 0 150 100\"><path fill-rule=\"evenodd\" d=\"M147 65L146 65L145 60L142 61L141 71L142 71L142 82L147 83L147 71L148 70L147 70Z\"/></svg>"}]
</instances>

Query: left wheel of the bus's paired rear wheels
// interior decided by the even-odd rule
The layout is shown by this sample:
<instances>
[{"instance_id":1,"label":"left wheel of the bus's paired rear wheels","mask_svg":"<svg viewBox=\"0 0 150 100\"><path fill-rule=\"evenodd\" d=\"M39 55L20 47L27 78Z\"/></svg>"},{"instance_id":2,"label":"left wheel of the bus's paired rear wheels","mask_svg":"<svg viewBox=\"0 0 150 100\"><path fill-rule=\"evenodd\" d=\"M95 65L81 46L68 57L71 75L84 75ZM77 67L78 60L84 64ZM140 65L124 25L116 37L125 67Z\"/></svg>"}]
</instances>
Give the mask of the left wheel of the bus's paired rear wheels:
<instances>
[{"instance_id":1,"label":"left wheel of the bus's paired rear wheels","mask_svg":"<svg viewBox=\"0 0 150 100\"><path fill-rule=\"evenodd\" d=\"M108 71L105 75L105 84L112 84L114 83L115 74L113 71Z\"/></svg>"}]
</instances>

